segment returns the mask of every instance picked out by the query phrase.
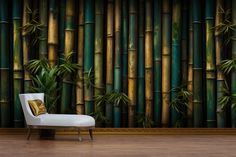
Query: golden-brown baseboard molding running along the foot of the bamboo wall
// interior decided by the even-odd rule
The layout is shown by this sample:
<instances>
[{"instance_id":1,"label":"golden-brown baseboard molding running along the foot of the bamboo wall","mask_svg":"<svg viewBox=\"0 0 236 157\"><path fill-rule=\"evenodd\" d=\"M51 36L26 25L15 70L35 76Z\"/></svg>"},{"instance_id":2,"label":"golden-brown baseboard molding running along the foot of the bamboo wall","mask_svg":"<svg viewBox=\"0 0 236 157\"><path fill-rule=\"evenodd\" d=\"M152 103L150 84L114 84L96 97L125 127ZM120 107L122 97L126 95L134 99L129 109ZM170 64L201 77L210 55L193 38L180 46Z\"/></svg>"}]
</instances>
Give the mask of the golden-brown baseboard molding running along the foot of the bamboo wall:
<instances>
[{"instance_id":1,"label":"golden-brown baseboard molding running along the foot of the bamboo wall","mask_svg":"<svg viewBox=\"0 0 236 157\"><path fill-rule=\"evenodd\" d=\"M32 130L38 134L37 129ZM26 128L0 128L0 135L26 134ZM77 134L73 129L57 129L58 135ZM82 134L88 134L83 130ZM95 128L95 135L236 135L235 128Z\"/></svg>"}]
</instances>

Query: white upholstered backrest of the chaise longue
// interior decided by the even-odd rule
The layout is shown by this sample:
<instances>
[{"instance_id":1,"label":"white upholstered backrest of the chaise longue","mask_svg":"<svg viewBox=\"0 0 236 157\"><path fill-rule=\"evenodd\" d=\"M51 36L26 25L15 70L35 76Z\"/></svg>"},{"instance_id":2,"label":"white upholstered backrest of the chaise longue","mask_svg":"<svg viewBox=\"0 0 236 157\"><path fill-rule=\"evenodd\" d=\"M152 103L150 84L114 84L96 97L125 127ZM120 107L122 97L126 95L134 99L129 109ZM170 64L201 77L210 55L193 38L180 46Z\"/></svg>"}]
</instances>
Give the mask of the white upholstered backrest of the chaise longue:
<instances>
[{"instance_id":1,"label":"white upholstered backrest of the chaise longue","mask_svg":"<svg viewBox=\"0 0 236 157\"><path fill-rule=\"evenodd\" d=\"M28 100L40 99L44 102L44 93L26 93L19 94L23 113L25 115L25 121L27 125L37 125L40 123L40 118L33 115Z\"/></svg>"}]
</instances>

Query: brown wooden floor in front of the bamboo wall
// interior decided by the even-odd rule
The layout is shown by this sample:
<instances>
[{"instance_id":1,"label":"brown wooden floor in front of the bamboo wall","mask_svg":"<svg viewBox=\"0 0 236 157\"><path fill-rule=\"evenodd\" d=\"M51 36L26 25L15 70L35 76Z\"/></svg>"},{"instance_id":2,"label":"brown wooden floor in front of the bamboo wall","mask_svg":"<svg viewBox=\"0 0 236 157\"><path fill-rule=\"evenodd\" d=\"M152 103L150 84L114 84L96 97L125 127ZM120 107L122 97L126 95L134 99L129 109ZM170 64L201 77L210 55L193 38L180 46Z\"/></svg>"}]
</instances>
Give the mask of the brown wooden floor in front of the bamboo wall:
<instances>
[{"instance_id":1,"label":"brown wooden floor in front of the bamboo wall","mask_svg":"<svg viewBox=\"0 0 236 157\"><path fill-rule=\"evenodd\" d=\"M236 157L235 135L0 135L0 157Z\"/></svg>"}]
</instances>

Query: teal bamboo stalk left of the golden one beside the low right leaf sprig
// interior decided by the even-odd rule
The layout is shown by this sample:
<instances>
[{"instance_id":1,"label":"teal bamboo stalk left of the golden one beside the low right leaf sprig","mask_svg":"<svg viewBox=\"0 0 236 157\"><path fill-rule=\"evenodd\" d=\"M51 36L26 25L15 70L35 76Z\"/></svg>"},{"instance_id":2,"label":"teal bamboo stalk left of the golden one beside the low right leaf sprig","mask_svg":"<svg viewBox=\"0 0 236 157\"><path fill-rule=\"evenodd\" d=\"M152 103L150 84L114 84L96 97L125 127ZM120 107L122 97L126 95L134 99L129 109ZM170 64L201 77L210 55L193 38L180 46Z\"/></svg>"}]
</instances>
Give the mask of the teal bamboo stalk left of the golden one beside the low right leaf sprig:
<instances>
[{"instance_id":1,"label":"teal bamboo stalk left of the golden one beside the low right leaf sprig","mask_svg":"<svg viewBox=\"0 0 236 157\"><path fill-rule=\"evenodd\" d=\"M154 59L154 126L161 126L161 0L155 0L153 4L153 59Z\"/></svg>"}]
</instances>

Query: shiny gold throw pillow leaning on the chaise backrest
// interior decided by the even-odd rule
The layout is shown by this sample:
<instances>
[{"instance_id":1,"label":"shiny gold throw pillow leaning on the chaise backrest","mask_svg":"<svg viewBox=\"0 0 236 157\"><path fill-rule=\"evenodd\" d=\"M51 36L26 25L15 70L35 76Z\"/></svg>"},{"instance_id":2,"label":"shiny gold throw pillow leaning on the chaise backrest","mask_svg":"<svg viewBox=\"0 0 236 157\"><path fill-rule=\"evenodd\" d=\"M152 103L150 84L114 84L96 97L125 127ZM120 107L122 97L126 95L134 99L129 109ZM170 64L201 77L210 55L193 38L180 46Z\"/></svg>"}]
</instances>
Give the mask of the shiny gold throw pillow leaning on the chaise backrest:
<instances>
[{"instance_id":1,"label":"shiny gold throw pillow leaning on the chaise backrest","mask_svg":"<svg viewBox=\"0 0 236 157\"><path fill-rule=\"evenodd\" d=\"M42 100L35 99L35 100L28 100L29 106L31 108L31 111L35 116L38 116L40 114L47 113L47 109L42 102Z\"/></svg>"}]
</instances>

